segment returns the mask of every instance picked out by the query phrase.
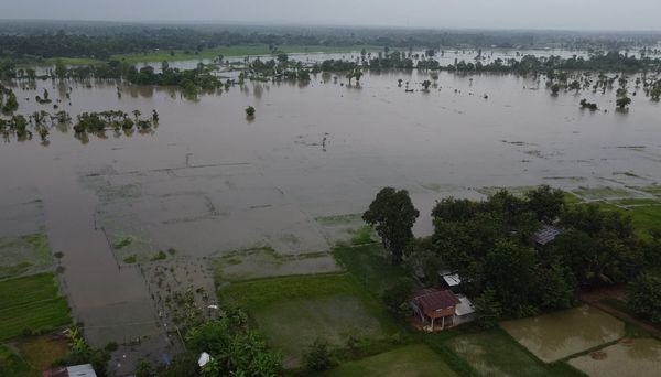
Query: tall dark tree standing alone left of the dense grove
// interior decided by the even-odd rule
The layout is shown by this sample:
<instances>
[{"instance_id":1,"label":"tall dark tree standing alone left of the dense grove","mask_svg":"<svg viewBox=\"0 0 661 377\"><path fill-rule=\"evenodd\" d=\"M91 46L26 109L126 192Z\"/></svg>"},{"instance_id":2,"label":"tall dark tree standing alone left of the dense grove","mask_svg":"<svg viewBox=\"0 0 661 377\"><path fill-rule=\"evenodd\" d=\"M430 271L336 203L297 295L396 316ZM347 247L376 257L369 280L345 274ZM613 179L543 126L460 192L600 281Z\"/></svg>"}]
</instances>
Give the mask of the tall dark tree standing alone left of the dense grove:
<instances>
[{"instance_id":1,"label":"tall dark tree standing alone left of the dense grove","mask_svg":"<svg viewBox=\"0 0 661 377\"><path fill-rule=\"evenodd\" d=\"M400 263L407 244L413 239L411 229L418 216L420 212L413 206L408 191L384 187L362 214L362 219L376 228L392 262Z\"/></svg>"}]
</instances>

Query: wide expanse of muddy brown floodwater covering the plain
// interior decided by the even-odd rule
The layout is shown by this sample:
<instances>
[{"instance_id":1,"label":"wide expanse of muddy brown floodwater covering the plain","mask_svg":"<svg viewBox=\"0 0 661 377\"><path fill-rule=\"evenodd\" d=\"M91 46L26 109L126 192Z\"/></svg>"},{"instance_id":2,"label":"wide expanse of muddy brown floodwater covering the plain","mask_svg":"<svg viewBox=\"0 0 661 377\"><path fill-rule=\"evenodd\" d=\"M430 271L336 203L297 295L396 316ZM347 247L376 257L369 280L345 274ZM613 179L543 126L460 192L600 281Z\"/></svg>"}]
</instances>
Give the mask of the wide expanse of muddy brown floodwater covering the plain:
<instances>
[{"instance_id":1,"label":"wide expanse of muddy brown floodwater covering the plain","mask_svg":"<svg viewBox=\"0 0 661 377\"><path fill-rule=\"evenodd\" d=\"M398 87L398 78L415 91ZM205 260L267 248L268 258L328 271L332 258L318 258L337 239L316 219L360 213L386 185L409 190L423 214L415 233L424 235L436 200L480 197L477 187L661 180L661 104L641 90L619 114L615 93L552 97L531 78L447 73L420 91L427 78L371 73L348 87L317 75L308 85L248 83L196 101L172 89L122 87L118 98L112 83L68 83L72 105L61 108L72 115L156 109L161 122L152 134L110 131L87 143L72 130L53 130L48 146L1 143L0 208L43 201L45 220L18 217L25 228L45 223L53 250L64 252L74 315L102 345L163 335L147 278L124 261L133 256L148 263L172 248L167 258ZM51 80L14 88L21 112L48 109L34 101L43 87L52 98L64 95ZM608 112L581 110L583 97ZM0 227L21 228L18 217ZM113 250L122 239L129 245ZM307 255L318 262L301 262Z\"/></svg>"}]
</instances>

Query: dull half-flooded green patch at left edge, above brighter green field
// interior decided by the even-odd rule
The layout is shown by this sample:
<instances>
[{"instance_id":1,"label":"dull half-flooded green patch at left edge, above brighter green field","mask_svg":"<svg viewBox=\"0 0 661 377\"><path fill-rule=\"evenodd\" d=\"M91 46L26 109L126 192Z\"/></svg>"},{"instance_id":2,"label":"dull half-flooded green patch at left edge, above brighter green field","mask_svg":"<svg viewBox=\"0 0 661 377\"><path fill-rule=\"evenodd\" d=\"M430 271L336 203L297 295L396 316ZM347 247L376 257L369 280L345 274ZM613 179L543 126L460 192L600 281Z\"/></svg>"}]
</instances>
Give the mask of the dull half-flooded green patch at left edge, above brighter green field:
<instances>
[{"instance_id":1,"label":"dull half-flooded green patch at left edge, above brighter green field","mask_svg":"<svg viewBox=\"0 0 661 377\"><path fill-rule=\"evenodd\" d=\"M45 234L0 238L0 280L43 272L51 266L53 257Z\"/></svg>"}]
</instances>

